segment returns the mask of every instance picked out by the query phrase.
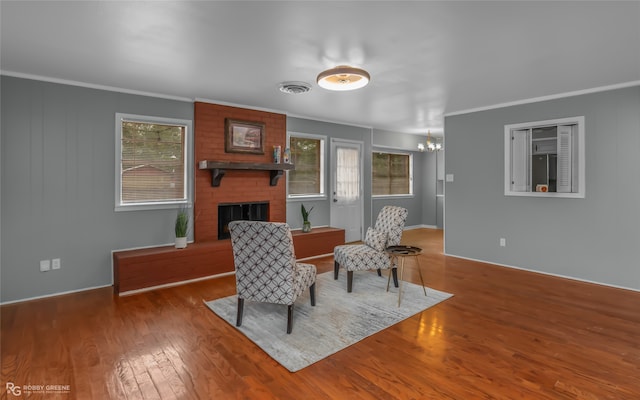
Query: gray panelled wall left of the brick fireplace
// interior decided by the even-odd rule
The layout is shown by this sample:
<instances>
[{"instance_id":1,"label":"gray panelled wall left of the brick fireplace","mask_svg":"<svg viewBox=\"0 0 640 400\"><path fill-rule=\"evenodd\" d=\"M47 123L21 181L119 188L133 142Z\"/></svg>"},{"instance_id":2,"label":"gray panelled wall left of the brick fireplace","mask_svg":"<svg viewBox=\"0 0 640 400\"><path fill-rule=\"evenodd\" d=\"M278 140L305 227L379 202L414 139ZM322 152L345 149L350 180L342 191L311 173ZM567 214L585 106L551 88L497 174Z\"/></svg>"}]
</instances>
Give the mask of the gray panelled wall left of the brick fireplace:
<instances>
[{"instance_id":1,"label":"gray panelled wall left of the brick fireplace","mask_svg":"<svg viewBox=\"0 0 640 400\"><path fill-rule=\"evenodd\" d=\"M0 301L110 285L112 250L173 243L175 210L114 212L115 113L192 120L193 103L0 79Z\"/></svg>"}]
</instances>

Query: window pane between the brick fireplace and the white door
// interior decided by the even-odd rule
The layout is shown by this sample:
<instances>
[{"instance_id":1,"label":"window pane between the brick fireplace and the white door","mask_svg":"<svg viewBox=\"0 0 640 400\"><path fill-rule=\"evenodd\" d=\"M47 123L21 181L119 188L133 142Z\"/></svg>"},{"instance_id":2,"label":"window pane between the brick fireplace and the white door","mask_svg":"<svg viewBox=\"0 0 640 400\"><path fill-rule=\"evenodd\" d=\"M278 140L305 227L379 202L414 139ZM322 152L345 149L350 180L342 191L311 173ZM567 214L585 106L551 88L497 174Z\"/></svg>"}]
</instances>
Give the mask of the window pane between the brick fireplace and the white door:
<instances>
[{"instance_id":1,"label":"window pane between the brick fireplace and the white door","mask_svg":"<svg viewBox=\"0 0 640 400\"><path fill-rule=\"evenodd\" d=\"M289 194L321 194L321 146L319 139L291 136L289 149L295 170L289 171Z\"/></svg>"}]
</instances>

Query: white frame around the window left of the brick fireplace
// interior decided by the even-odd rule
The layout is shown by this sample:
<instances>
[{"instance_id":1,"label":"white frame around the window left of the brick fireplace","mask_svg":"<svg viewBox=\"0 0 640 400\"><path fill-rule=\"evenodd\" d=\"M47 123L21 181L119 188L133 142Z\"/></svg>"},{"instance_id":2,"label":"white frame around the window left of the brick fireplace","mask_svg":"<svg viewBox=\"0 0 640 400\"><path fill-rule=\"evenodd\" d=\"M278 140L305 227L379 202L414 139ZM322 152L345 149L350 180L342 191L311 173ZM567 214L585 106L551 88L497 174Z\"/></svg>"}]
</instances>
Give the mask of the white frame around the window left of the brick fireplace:
<instances>
[{"instance_id":1,"label":"white frame around the window left of the brick fireplace","mask_svg":"<svg viewBox=\"0 0 640 400\"><path fill-rule=\"evenodd\" d=\"M163 118L148 115L116 113L115 148L115 211L161 210L172 208L190 208L193 199L193 123L191 120ZM134 121L149 124L175 125L185 128L184 135L184 183L185 198L172 201L122 202L122 121Z\"/></svg>"}]
</instances>

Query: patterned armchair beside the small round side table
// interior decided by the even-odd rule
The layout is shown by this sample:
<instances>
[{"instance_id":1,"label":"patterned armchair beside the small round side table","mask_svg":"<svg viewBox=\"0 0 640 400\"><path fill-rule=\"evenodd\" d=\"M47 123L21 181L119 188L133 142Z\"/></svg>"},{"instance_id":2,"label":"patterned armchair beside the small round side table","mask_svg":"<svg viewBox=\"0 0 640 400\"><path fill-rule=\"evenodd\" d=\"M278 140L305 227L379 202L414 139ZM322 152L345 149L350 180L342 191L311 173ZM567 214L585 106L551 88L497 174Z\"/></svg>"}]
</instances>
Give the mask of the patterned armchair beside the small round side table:
<instances>
[{"instance_id":1,"label":"patterned armchair beside the small round side table","mask_svg":"<svg viewBox=\"0 0 640 400\"><path fill-rule=\"evenodd\" d=\"M400 244L402 230L407 220L406 208L384 206L373 228L367 229L364 244L347 244L336 246L333 250L334 270L333 278L338 279L338 272L342 266L347 270L347 292L353 289L353 272L393 268L393 283L398 287L397 265L391 265L391 259L385 252L388 246Z\"/></svg>"}]
</instances>

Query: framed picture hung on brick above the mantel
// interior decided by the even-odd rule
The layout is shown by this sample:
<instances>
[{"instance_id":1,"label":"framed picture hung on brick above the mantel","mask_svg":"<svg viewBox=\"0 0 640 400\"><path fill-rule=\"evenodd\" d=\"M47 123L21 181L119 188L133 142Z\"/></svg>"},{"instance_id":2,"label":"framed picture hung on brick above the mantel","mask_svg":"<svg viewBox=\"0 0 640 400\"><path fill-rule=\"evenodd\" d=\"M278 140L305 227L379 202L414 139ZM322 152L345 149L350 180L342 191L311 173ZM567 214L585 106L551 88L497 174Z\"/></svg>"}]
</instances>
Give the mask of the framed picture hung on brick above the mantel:
<instances>
[{"instance_id":1,"label":"framed picture hung on brick above the mantel","mask_svg":"<svg viewBox=\"0 0 640 400\"><path fill-rule=\"evenodd\" d=\"M264 154L265 127L263 123L225 118L224 125L225 152Z\"/></svg>"}]
</instances>

